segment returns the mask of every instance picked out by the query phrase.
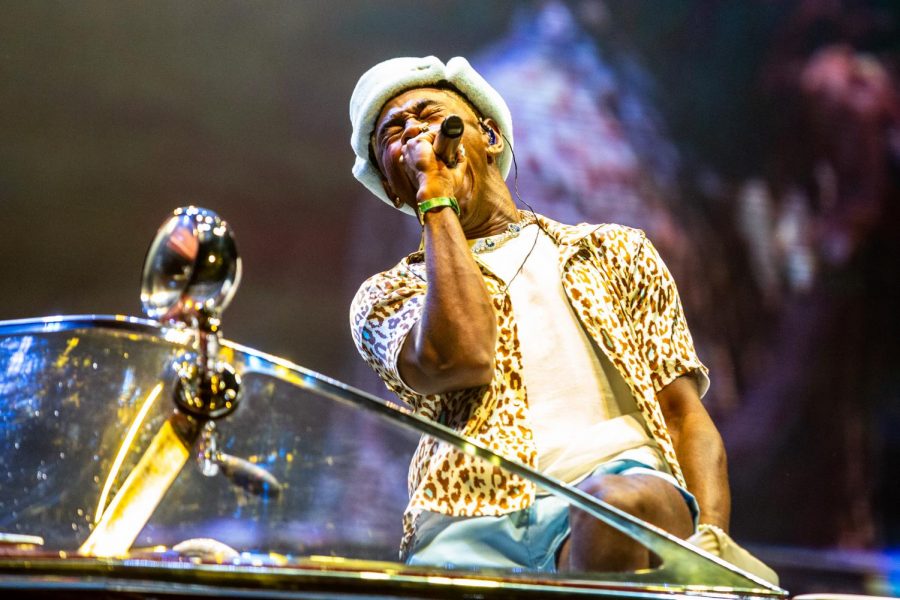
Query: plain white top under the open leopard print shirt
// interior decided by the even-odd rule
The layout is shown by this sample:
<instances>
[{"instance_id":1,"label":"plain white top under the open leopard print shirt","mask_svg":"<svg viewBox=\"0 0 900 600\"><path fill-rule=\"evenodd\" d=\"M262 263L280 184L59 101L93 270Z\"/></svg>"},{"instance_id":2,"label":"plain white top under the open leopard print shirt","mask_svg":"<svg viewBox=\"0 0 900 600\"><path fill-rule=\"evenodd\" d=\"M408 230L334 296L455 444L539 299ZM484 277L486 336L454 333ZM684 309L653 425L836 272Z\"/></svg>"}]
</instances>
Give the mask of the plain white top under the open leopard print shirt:
<instances>
[{"instance_id":1,"label":"plain white top under the open leopard print shirt","mask_svg":"<svg viewBox=\"0 0 900 600\"><path fill-rule=\"evenodd\" d=\"M512 281L508 292L539 470L575 483L600 463L631 458L668 472L628 385L569 304L553 240L531 224L476 256L505 283Z\"/></svg>"}]
</instances>

